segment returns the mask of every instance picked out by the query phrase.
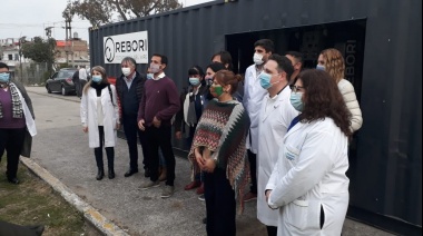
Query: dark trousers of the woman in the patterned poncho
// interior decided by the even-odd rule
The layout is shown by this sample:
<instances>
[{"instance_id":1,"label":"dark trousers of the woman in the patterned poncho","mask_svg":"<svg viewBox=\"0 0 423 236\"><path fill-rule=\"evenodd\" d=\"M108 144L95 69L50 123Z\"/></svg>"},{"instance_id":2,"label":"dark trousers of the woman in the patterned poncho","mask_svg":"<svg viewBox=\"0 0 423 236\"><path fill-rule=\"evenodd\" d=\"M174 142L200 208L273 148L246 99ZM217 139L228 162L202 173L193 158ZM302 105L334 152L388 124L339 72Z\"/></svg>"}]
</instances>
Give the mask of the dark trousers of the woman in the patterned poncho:
<instances>
[{"instance_id":1,"label":"dark trousers of the woman in the patterned poncho","mask_svg":"<svg viewBox=\"0 0 423 236\"><path fill-rule=\"evenodd\" d=\"M224 169L215 168L214 173L204 174L204 195L206 197L207 235L235 236L235 191L232 189Z\"/></svg>"}]
</instances>

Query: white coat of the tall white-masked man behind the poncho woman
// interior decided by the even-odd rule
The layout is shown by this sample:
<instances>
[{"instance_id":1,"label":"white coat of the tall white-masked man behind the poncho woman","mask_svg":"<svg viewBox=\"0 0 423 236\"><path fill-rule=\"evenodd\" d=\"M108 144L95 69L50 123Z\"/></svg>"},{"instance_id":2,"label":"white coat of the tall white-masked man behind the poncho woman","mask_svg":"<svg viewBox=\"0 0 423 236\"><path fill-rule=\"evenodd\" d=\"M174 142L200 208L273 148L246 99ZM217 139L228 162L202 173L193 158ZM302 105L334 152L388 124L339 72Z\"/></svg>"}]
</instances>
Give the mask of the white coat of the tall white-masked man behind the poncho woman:
<instances>
[{"instance_id":1,"label":"white coat of the tall white-masked man behind the poncho woman","mask_svg":"<svg viewBox=\"0 0 423 236\"><path fill-rule=\"evenodd\" d=\"M249 66L245 71L243 105L247 110L250 120L246 147L254 154L257 154L258 149L259 111L262 108L262 101L266 95L267 90L260 86L256 65Z\"/></svg>"}]
</instances>

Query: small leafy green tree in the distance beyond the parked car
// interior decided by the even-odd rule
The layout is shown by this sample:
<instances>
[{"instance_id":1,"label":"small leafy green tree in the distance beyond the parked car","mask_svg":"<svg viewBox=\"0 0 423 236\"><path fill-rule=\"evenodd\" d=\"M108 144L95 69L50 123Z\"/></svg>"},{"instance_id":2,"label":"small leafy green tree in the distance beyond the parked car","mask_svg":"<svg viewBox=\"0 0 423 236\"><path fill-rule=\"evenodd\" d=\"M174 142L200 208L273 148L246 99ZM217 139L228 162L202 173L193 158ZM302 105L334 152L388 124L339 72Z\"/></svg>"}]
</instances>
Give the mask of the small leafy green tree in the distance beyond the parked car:
<instances>
[{"instance_id":1,"label":"small leafy green tree in the distance beyond the parked car","mask_svg":"<svg viewBox=\"0 0 423 236\"><path fill-rule=\"evenodd\" d=\"M22 55L36 62L47 62L49 70L55 63L56 40L49 38L43 40L41 37L35 37L32 41L22 43Z\"/></svg>"}]
</instances>

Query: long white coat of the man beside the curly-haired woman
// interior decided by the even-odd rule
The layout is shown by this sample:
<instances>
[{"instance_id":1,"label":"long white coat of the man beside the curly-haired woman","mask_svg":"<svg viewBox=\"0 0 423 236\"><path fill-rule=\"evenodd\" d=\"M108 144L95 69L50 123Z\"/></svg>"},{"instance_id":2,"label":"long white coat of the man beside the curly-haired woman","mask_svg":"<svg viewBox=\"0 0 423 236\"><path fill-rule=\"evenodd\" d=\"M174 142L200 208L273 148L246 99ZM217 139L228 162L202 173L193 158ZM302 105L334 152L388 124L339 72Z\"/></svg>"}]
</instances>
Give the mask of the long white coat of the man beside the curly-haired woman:
<instances>
[{"instance_id":1,"label":"long white coat of the man beside the curly-haired woman","mask_svg":"<svg viewBox=\"0 0 423 236\"><path fill-rule=\"evenodd\" d=\"M291 89L285 87L274 98L264 98L258 125L257 218L267 226L277 226L278 212L268 207L265 187L277 163L282 140L298 111L291 105Z\"/></svg>"}]
</instances>

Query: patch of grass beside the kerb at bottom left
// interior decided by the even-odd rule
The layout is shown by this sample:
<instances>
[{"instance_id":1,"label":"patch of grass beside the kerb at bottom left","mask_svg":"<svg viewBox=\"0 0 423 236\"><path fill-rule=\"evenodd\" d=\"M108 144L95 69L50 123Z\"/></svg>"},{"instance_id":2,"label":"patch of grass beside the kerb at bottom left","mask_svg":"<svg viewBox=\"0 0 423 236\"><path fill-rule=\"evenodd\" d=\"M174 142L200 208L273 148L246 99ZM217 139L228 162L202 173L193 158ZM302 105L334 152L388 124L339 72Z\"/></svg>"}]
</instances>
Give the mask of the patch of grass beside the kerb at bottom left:
<instances>
[{"instance_id":1,"label":"patch of grass beside the kerb at bottom left","mask_svg":"<svg viewBox=\"0 0 423 236\"><path fill-rule=\"evenodd\" d=\"M0 219L18 225L45 225L43 236L98 235L83 216L42 179L19 165L19 185L7 181L6 157L0 163Z\"/></svg>"}]
</instances>

